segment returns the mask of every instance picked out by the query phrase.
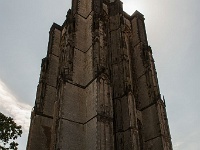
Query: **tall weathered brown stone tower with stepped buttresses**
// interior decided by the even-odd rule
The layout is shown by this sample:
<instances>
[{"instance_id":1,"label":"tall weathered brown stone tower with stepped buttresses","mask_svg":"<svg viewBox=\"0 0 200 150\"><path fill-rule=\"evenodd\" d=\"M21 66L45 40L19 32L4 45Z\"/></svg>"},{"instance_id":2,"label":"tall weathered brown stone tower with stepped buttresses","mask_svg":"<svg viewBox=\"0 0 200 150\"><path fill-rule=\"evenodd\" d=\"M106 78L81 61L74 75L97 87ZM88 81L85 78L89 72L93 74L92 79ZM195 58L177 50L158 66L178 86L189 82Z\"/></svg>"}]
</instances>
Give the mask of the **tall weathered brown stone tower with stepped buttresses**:
<instances>
[{"instance_id":1,"label":"tall weathered brown stone tower with stepped buttresses","mask_svg":"<svg viewBox=\"0 0 200 150\"><path fill-rule=\"evenodd\" d=\"M144 16L72 0L49 32L27 150L172 150Z\"/></svg>"}]
</instances>

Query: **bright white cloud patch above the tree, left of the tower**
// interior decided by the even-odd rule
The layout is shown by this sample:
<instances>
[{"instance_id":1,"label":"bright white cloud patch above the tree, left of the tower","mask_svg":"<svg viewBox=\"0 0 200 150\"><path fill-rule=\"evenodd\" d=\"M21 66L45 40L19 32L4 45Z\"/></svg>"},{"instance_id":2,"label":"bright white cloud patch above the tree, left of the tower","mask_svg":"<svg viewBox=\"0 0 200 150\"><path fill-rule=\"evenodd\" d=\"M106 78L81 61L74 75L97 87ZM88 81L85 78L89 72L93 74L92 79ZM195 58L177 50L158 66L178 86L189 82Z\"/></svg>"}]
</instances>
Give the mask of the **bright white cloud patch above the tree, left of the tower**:
<instances>
[{"instance_id":1,"label":"bright white cloud patch above the tree, left of the tower","mask_svg":"<svg viewBox=\"0 0 200 150\"><path fill-rule=\"evenodd\" d=\"M31 106L19 102L1 80L0 111L13 117L14 121L21 125L25 132L29 130Z\"/></svg>"}]
</instances>

